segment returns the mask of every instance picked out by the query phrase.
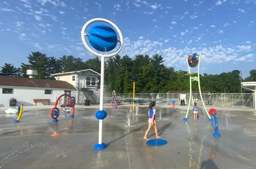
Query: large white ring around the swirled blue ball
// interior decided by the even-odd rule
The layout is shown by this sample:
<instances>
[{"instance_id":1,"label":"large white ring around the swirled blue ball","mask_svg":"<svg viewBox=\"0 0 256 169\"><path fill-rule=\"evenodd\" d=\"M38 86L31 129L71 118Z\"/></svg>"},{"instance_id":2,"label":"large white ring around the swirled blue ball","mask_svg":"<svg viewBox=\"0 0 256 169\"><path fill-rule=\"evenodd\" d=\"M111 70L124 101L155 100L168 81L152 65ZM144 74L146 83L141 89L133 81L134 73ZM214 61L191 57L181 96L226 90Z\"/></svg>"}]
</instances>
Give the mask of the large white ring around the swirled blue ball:
<instances>
[{"instance_id":1,"label":"large white ring around the swirled blue ball","mask_svg":"<svg viewBox=\"0 0 256 169\"><path fill-rule=\"evenodd\" d=\"M120 37L120 40L119 40L120 46L119 46L119 48L118 48L114 53L112 53L112 54L99 54L99 53L95 52L94 50L92 50L92 49L88 46L88 44L87 44L87 42L86 42L86 40L85 40L85 36L86 36L85 30L86 30L86 28L87 28L91 23L97 22L97 21L102 21L102 22L109 23L111 26L113 26L113 27L115 28L115 30L116 30L116 31L118 32L118 34L119 34L119 37ZM83 45L86 47L86 49L89 50L89 52L91 52L92 54L94 54L94 55L96 55L96 56L98 56L98 57L112 57L112 56L117 55L117 54L121 51L121 49L122 49L122 47L123 47L123 43L124 43L123 35L122 35L120 29L115 25L115 23L113 23L113 22L111 22L111 21L109 21L109 20L107 20L107 19L103 19L103 18L95 18L95 19L91 19L90 21L86 22L86 23L84 24L83 28L82 28L81 38L82 38L82 41L83 41Z\"/></svg>"}]
</instances>

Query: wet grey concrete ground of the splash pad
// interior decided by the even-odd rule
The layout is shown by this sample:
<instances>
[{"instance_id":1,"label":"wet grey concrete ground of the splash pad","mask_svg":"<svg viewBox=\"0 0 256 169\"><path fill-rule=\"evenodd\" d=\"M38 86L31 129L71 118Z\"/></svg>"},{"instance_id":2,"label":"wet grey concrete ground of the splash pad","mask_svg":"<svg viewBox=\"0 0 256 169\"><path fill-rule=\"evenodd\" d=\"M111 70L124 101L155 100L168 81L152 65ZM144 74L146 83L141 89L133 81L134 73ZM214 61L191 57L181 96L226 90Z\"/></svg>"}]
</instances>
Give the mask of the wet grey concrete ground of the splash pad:
<instances>
[{"instance_id":1,"label":"wet grey concrete ground of the splash pad","mask_svg":"<svg viewBox=\"0 0 256 169\"><path fill-rule=\"evenodd\" d=\"M25 112L21 122L13 124L16 115L0 115L1 169L237 169L256 168L255 120L252 112L229 111L217 114L221 138L213 138L214 124L199 112L184 123L185 110L175 114L170 108L157 108L159 135L168 140L165 146L147 146L143 140L147 129L148 108L140 107L131 115L127 126L125 113L129 107L105 109L103 142L108 148L93 150L98 141L97 109L80 109L75 118L61 112L57 132L51 137L46 125L54 128L48 110ZM159 109L162 109L161 120ZM246 110L246 109L245 109ZM219 110L218 112L222 112ZM250 118L250 119L248 119ZM255 119L255 120L254 120ZM148 137L155 138L154 130Z\"/></svg>"}]
</instances>

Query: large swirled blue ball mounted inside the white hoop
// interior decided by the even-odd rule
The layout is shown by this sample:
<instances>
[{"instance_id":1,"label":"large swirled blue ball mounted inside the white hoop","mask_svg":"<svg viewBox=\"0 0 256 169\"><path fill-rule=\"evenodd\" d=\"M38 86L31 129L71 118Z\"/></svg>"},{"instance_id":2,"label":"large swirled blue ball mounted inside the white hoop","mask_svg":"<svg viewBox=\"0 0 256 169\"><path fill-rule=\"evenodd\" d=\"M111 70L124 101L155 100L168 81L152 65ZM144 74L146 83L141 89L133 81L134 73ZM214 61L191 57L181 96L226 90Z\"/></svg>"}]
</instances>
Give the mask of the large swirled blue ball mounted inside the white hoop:
<instances>
[{"instance_id":1,"label":"large swirled blue ball mounted inside the white hoop","mask_svg":"<svg viewBox=\"0 0 256 169\"><path fill-rule=\"evenodd\" d=\"M94 25L89 30L89 43L91 46L101 52L113 50L118 42L118 37L113 28L106 25Z\"/></svg>"}]
</instances>

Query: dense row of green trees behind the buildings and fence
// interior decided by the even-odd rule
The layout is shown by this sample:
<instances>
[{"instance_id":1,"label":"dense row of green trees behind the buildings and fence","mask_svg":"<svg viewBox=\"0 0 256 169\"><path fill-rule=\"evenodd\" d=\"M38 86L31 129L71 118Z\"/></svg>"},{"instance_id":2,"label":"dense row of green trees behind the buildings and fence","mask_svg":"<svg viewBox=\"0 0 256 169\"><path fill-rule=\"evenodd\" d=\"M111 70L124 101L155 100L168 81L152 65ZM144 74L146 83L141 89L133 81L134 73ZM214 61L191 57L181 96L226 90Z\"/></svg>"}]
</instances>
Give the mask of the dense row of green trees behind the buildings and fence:
<instances>
[{"instance_id":1,"label":"dense row of green trees behind the buildings and fence","mask_svg":"<svg viewBox=\"0 0 256 169\"><path fill-rule=\"evenodd\" d=\"M62 71L92 69L100 73L101 64L98 57L82 61L83 58L75 58L72 55L56 59L42 52L31 52L27 58L29 63L21 63L20 68L5 63L1 67L1 73L6 76L27 77L26 70L33 69L38 70L38 79L54 79L51 74ZM159 54L152 57L138 54L134 59L128 55L108 58L105 61L104 89L107 92L115 90L116 93L132 93L133 84L129 79L136 77L139 79L135 88L137 93L189 90L189 76L184 75L188 72L168 68L163 62L164 58ZM250 76L245 79L240 79L240 73L239 70L233 70L221 74L200 74L201 90L209 90L211 93L241 93L240 81L256 81L256 70L250 70ZM192 82L192 90L198 90L197 82Z\"/></svg>"}]
</instances>

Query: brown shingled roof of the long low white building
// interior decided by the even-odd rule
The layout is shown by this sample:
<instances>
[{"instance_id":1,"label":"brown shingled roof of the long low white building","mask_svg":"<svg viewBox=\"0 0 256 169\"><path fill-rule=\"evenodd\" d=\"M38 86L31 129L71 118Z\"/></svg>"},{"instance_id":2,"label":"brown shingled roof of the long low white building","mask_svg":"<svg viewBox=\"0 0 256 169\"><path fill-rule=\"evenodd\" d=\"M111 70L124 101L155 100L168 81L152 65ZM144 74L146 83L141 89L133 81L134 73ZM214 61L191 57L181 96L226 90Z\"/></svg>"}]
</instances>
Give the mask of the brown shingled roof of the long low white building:
<instances>
[{"instance_id":1,"label":"brown shingled roof of the long low white building","mask_svg":"<svg viewBox=\"0 0 256 169\"><path fill-rule=\"evenodd\" d=\"M0 75L0 86L76 89L72 84L61 80L32 79L2 75Z\"/></svg>"}]
</instances>

